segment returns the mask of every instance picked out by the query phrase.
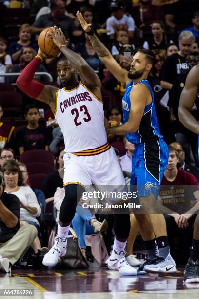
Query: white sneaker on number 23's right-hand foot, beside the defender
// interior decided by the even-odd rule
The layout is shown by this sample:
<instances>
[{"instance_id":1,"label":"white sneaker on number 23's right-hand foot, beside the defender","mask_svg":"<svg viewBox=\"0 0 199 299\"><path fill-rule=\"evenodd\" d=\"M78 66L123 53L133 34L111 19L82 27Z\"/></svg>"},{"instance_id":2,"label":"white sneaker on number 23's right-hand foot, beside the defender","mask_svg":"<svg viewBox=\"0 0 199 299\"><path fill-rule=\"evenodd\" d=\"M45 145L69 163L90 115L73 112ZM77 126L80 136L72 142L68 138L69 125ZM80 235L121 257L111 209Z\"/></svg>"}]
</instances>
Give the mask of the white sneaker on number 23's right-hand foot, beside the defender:
<instances>
[{"instance_id":1,"label":"white sneaker on number 23's right-hand foot, beside the defender","mask_svg":"<svg viewBox=\"0 0 199 299\"><path fill-rule=\"evenodd\" d=\"M137 270L127 263L125 254L125 251L122 251L119 254L112 252L111 256L107 260L108 268L119 271L121 275L137 275Z\"/></svg>"}]
</instances>

